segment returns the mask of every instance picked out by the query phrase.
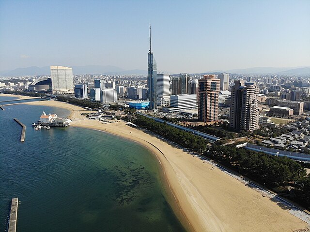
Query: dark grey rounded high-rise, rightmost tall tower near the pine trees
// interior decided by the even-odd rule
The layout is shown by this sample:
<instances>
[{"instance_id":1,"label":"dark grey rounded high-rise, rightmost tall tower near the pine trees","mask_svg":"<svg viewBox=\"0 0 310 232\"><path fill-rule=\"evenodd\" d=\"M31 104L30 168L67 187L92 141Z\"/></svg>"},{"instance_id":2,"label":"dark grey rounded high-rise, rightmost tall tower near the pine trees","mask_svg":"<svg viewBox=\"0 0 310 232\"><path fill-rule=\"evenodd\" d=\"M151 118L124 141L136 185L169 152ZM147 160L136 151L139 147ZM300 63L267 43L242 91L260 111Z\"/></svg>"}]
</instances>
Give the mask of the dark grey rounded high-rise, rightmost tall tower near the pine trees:
<instances>
[{"instance_id":1,"label":"dark grey rounded high-rise, rightmost tall tower near the pine trees","mask_svg":"<svg viewBox=\"0 0 310 232\"><path fill-rule=\"evenodd\" d=\"M234 82L231 95L230 127L236 131L259 129L259 88L255 82L238 80Z\"/></svg>"}]
</instances>

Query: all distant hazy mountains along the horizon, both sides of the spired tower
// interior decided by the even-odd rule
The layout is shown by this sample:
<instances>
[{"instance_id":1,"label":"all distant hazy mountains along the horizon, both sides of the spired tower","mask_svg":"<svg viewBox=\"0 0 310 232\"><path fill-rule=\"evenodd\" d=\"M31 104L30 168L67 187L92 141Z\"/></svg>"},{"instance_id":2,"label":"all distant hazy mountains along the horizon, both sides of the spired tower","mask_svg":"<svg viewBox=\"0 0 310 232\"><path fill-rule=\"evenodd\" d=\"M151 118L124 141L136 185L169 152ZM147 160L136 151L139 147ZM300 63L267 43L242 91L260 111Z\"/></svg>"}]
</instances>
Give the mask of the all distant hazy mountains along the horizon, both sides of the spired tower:
<instances>
[{"instance_id":1,"label":"all distant hazy mountains along the horizon, both sides of the spired tower","mask_svg":"<svg viewBox=\"0 0 310 232\"><path fill-rule=\"evenodd\" d=\"M73 74L106 74L106 75L147 75L146 70L134 69L124 70L122 68L110 65L86 65L72 66ZM31 66L27 68L17 68L14 70L0 71L2 76L27 76L35 75L50 75L50 67ZM233 70L215 70L206 73L195 74L218 74L218 73L240 73L240 74L310 74L310 67L290 67L290 68L274 68L274 67L255 67L248 69L233 69Z\"/></svg>"}]
</instances>

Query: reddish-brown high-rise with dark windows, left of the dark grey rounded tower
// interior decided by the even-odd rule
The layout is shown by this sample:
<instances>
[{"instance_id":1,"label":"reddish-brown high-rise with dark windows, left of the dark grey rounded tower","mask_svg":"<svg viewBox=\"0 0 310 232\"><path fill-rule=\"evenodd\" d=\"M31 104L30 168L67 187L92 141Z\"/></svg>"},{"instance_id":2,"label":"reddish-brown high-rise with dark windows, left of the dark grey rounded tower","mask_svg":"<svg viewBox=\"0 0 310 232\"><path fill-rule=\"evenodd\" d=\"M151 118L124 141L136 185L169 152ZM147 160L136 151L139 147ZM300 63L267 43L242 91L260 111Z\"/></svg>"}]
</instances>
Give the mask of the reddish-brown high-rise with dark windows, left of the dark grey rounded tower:
<instances>
[{"instance_id":1,"label":"reddish-brown high-rise with dark windows, left of the dark grey rounded tower","mask_svg":"<svg viewBox=\"0 0 310 232\"><path fill-rule=\"evenodd\" d=\"M219 86L216 75L204 75L199 80L198 119L202 122L217 121Z\"/></svg>"}]
</instances>

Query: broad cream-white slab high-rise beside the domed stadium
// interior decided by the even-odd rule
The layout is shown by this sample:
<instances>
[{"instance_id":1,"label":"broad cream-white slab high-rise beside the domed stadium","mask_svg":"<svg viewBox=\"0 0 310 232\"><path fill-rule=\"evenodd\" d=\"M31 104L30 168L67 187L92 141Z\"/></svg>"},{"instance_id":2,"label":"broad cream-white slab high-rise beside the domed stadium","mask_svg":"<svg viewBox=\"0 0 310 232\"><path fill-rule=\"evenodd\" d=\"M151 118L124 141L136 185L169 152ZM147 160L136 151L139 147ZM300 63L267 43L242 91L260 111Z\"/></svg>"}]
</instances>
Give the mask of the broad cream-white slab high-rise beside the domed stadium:
<instances>
[{"instance_id":1,"label":"broad cream-white slab high-rise beside the domed stadium","mask_svg":"<svg viewBox=\"0 0 310 232\"><path fill-rule=\"evenodd\" d=\"M72 68L65 66L50 66L53 94L74 93Z\"/></svg>"}]
</instances>

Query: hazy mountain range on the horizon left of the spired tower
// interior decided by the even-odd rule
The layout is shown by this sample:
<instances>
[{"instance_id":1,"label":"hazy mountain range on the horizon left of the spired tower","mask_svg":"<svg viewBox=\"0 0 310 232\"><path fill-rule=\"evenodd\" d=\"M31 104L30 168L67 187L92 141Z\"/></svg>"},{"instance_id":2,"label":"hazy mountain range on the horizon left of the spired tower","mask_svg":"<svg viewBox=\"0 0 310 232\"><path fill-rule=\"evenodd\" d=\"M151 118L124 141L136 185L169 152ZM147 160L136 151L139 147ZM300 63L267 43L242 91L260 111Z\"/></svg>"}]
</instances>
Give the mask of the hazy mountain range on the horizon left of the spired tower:
<instances>
[{"instance_id":1,"label":"hazy mountain range on the horizon left of the spired tower","mask_svg":"<svg viewBox=\"0 0 310 232\"><path fill-rule=\"evenodd\" d=\"M110 65L86 65L86 66L72 66L73 74L106 74L106 75L147 75L146 70L124 70L122 68ZM50 75L50 67L36 67L31 66L27 68L17 68L9 71L0 71L2 76L28 76L35 75Z\"/></svg>"}]
</instances>

